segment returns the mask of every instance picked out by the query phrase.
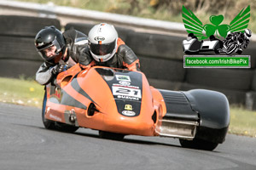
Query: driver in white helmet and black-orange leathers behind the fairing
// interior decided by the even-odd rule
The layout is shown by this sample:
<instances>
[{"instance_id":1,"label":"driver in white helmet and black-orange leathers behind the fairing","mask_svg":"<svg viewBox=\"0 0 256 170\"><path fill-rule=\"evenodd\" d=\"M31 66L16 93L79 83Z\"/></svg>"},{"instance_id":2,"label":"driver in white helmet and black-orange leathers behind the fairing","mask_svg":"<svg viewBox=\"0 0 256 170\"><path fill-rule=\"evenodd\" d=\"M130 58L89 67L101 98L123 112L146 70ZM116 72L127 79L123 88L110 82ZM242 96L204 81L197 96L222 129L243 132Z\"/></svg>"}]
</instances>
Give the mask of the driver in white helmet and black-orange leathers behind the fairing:
<instances>
[{"instance_id":1,"label":"driver in white helmet and black-orange leathers behind the fairing","mask_svg":"<svg viewBox=\"0 0 256 170\"><path fill-rule=\"evenodd\" d=\"M93 26L88 34L89 46L85 48L85 57L79 59L82 69L93 65L140 71L139 59L125 45L112 25L101 23Z\"/></svg>"}]
</instances>

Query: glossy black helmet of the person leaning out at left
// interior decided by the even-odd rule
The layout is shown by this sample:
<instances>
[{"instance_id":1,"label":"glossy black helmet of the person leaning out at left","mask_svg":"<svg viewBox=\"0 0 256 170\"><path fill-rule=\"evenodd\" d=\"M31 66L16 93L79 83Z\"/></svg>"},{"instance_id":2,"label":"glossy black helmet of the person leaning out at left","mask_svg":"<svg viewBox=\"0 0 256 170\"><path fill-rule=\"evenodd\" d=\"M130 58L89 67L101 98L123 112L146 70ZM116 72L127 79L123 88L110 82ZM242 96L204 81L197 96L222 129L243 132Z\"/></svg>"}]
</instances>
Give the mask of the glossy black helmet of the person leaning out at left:
<instances>
[{"instance_id":1,"label":"glossy black helmet of the person leaning out at left","mask_svg":"<svg viewBox=\"0 0 256 170\"><path fill-rule=\"evenodd\" d=\"M56 47L55 55L52 57L47 57L44 54L44 49L53 45ZM62 36L61 31L56 29L55 26L46 26L44 29L39 31L35 37L35 46L38 49L38 54L40 54L40 56L47 61L54 59L55 56L59 55L61 52L64 54L66 50L65 39Z\"/></svg>"}]
</instances>

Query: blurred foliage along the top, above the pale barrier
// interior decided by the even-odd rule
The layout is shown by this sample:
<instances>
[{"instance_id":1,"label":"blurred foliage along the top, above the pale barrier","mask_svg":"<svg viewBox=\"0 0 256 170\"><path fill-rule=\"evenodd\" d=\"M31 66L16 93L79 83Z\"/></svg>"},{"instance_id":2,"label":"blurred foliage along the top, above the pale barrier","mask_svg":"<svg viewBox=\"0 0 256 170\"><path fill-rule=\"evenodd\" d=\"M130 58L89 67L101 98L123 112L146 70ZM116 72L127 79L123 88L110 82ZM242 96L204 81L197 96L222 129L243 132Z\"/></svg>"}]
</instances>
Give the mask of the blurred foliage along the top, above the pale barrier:
<instances>
[{"instance_id":1,"label":"blurred foliage along the top, above the pale barrier","mask_svg":"<svg viewBox=\"0 0 256 170\"><path fill-rule=\"evenodd\" d=\"M128 14L155 20L182 22L183 5L195 13L202 23L209 22L210 15L224 15L224 24L229 24L242 8L251 6L248 28L256 32L256 0L20 0L23 2L49 3L86 8L109 13Z\"/></svg>"}]
</instances>

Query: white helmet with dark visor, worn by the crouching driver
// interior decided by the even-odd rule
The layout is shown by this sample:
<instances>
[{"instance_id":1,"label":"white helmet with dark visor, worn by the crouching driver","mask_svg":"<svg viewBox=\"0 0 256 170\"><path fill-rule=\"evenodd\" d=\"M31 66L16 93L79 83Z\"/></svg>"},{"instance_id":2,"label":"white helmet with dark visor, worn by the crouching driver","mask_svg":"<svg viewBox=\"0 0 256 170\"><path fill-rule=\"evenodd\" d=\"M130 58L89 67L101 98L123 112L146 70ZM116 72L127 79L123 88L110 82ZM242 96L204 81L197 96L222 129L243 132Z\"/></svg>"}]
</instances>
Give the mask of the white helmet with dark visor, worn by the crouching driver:
<instances>
[{"instance_id":1,"label":"white helmet with dark visor, worn by the crouching driver","mask_svg":"<svg viewBox=\"0 0 256 170\"><path fill-rule=\"evenodd\" d=\"M101 23L90 29L88 40L92 57L98 62L105 62L116 52L118 33L113 25Z\"/></svg>"}]
</instances>

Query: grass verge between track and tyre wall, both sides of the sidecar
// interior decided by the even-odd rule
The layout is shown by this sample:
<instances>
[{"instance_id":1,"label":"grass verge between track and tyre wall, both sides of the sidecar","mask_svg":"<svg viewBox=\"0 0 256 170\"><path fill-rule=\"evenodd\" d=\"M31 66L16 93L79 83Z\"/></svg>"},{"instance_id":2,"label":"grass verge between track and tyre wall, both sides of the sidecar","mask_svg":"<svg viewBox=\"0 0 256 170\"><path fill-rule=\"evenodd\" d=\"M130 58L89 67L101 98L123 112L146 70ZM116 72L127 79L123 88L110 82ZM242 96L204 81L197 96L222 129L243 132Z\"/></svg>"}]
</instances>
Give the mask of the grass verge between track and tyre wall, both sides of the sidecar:
<instances>
[{"instance_id":1,"label":"grass verge between track and tyre wall, both sides of the sidecar","mask_svg":"<svg viewBox=\"0 0 256 170\"><path fill-rule=\"evenodd\" d=\"M41 108L44 86L33 80L0 77L0 102ZM230 107L229 133L256 137L256 111Z\"/></svg>"}]
</instances>

